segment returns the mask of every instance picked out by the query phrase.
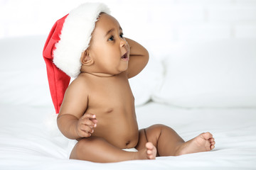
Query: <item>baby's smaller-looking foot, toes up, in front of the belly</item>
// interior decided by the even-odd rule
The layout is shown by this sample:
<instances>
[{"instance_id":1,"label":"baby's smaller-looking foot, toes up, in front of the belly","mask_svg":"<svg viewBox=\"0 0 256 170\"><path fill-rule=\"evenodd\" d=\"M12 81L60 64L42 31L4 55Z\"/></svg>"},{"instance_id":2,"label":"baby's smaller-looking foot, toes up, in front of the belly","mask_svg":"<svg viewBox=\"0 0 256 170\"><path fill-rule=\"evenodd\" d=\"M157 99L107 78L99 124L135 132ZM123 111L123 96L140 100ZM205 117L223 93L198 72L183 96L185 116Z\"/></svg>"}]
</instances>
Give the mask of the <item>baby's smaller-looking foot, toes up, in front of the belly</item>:
<instances>
[{"instance_id":1,"label":"baby's smaller-looking foot, toes up, in front of the belly","mask_svg":"<svg viewBox=\"0 0 256 170\"><path fill-rule=\"evenodd\" d=\"M156 159L156 147L147 142L145 148L138 152L137 159Z\"/></svg>"}]
</instances>

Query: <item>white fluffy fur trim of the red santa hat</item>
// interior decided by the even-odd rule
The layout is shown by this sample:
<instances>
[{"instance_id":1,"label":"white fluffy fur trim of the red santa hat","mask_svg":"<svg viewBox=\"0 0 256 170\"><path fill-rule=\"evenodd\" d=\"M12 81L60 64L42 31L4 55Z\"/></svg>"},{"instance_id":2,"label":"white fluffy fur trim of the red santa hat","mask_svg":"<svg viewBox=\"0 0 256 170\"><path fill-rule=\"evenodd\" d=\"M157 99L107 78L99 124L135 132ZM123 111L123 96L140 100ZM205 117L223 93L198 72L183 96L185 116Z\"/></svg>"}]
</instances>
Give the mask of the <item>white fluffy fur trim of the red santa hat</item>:
<instances>
[{"instance_id":1,"label":"white fluffy fur trim of the red santa hat","mask_svg":"<svg viewBox=\"0 0 256 170\"><path fill-rule=\"evenodd\" d=\"M80 57L89 46L101 12L110 13L110 9L101 3L85 3L70 11L65 18L60 40L53 52L53 63L70 77L80 74Z\"/></svg>"}]
</instances>

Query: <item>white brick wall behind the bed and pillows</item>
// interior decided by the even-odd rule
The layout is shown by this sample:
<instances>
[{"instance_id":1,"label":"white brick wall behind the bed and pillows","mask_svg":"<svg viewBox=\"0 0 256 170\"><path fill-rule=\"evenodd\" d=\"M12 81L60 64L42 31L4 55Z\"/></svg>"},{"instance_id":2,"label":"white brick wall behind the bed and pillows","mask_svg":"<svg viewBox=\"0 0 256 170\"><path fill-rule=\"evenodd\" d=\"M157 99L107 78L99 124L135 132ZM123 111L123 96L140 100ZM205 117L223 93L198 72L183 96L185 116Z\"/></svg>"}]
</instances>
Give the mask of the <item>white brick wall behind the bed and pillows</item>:
<instances>
[{"instance_id":1,"label":"white brick wall behind the bed and pillows","mask_svg":"<svg viewBox=\"0 0 256 170\"><path fill-rule=\"evenodd\" d=\"M47 35L58 18L82 2L0 0L0 38ZM166 48L169 42L256 38L256 0L103 2L110 6L125 36L152 48L156 44Z\"/></svg>"}]
</instances>

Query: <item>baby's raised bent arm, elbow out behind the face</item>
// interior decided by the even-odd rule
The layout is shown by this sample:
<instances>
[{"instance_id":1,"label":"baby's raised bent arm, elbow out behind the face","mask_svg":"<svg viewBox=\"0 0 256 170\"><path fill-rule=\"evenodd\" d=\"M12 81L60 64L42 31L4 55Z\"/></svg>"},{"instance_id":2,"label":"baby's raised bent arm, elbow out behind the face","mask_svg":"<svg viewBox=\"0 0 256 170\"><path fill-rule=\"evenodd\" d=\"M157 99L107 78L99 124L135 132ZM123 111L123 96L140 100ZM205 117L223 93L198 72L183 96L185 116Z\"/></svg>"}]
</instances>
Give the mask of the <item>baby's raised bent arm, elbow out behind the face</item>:
<instances>
[{"instance_id":1,"label":"baby's raised bent arm, elbow out behind the face","mask_svg":"<svg viewBox=\"0 0 256 170\"><path fill-rule=\"evenodd\" d=\"M149 52L138 42L129 38L125 38L125 40L127 40L130 47L129 66L127 69L128 78L132 78L142 72L142 69L146 66L149 61Z\"/></svg>"}]
</instances>

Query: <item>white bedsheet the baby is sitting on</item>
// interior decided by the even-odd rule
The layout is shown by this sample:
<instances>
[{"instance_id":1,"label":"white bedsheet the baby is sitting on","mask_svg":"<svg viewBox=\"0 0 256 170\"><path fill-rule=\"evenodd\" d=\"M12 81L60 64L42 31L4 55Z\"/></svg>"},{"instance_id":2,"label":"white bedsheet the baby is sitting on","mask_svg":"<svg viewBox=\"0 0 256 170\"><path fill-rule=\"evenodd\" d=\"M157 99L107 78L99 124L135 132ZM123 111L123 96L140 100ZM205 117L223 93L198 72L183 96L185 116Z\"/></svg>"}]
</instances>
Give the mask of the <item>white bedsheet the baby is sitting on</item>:
<instances>
[{"instance_id":1,"label":"white bedsheet the baby is sitting on","mask_svg":"<svg viewBox=\"0 0 256 170\"><path fill-rule=\"evenodd\" d=\"M68 159L53 108L0 105L0 169L256 169L256 109L183 109L159 103L137 107L139 128L163 123L184 140L210 131L211 152L99 164Z\"/></svg>"}]
</instances>

